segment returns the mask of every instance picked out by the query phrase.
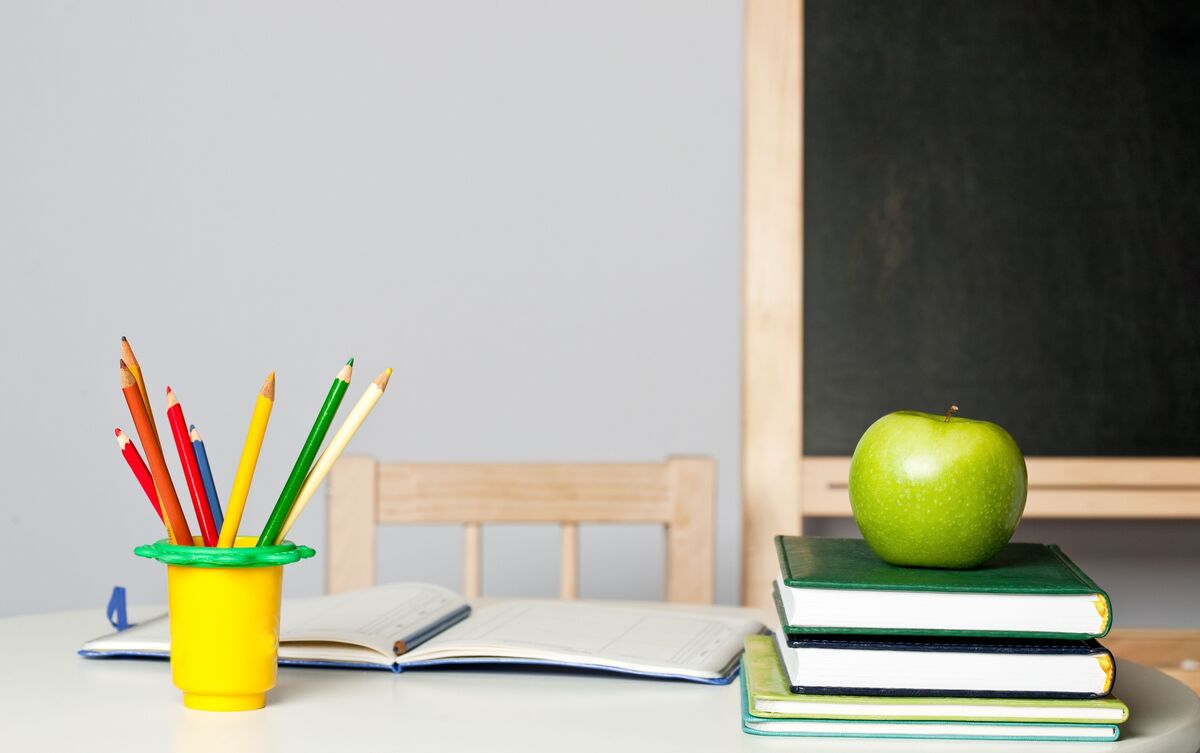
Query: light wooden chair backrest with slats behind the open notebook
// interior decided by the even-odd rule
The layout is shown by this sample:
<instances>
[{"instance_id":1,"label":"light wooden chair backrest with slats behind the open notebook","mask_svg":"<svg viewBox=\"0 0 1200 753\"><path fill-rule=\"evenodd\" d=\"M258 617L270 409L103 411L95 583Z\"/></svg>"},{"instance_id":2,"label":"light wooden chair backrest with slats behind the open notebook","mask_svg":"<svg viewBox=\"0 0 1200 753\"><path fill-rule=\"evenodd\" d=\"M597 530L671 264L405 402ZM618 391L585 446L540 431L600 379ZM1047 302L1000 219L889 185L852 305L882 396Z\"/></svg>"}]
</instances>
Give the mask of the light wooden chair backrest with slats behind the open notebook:
<instances>
[{"instance_id":1,"label":"light wooden chair backrest with slats behind the open notebook","mask_svg":"<svg viewBox=\"0 0 1200 753\"><path fill-rule=\"evenodd\" d=\"M559 594L578 596L581 523L666 529L666 598L712 603L716 463L379 463L343 457L330 472L325 549L330 594L374 585L376 526L463 525L463 595L480 594L485 523L557 523Z\"/></svg>"}]
</instances>

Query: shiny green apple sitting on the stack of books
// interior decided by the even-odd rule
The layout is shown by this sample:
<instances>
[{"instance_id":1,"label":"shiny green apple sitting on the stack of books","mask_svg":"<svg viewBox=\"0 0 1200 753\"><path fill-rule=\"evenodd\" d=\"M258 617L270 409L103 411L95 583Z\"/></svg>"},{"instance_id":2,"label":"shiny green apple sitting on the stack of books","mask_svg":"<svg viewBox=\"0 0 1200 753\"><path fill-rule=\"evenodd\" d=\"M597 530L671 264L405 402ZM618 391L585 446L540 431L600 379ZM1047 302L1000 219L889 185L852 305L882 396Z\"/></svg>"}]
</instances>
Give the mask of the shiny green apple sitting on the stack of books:
<instances>
[{"instance_id":1,"label":"shiny green apple sitting on the stack of books","mask_svg":"<svg viewBox=\"0 0 1200 753\"><path fill-rule=\"evenodd\" d=\"M872 423L850 462L863 538L893 565L967 568L1013 537L1025 511L1025 457L988 421L902 410Z\"/></svg>"}]
</instances>

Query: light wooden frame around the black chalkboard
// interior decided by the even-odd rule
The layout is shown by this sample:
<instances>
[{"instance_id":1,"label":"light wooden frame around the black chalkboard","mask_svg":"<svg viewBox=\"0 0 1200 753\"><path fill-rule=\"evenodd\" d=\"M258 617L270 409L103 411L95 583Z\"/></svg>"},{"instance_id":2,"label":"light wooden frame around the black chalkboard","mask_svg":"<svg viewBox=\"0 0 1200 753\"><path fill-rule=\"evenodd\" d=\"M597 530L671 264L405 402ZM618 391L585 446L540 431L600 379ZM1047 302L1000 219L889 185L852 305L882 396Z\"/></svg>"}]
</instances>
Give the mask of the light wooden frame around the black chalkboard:
<instances>
[{"instance_id":1,"label":"light wooden frame around the black chalkboard","mask_svg":"<svg viewBox=\"0 0 1200 753\"><path fill-rule=\"evenodd\" d=\"M803 453L803 0L748 0L744 55L742 600L767 607L772 537L851 514L850 458ZM1027 462L1027 517L1200 518L1200 457Z\"/></svg>"}]
</instances>

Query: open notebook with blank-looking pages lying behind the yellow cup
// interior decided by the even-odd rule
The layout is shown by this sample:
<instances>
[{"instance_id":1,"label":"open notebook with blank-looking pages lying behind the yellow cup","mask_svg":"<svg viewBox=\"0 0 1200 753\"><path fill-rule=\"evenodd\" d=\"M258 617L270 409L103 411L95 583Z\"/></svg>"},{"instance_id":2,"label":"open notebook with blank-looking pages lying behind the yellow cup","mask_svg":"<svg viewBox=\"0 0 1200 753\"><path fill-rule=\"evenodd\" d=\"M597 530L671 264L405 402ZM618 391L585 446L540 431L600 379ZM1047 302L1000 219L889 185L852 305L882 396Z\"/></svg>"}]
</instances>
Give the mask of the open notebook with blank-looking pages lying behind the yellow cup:
<instances>
[{"instance_id":1,"label":"open notebook with blank-looking pages lying behind the yellow cup","mask_svg":"<svg viewBox=\"0 0 1200 753\"><path fill-rule=\"evenodd\" d=\"M746 635L763 625L716 610L520 600L474 610L421 583L284 600L280 663L404 671L448 664L527 664L724 685ZM167 657L167 615L89 640L85 657Z\"/></svg>"}]
</instances>

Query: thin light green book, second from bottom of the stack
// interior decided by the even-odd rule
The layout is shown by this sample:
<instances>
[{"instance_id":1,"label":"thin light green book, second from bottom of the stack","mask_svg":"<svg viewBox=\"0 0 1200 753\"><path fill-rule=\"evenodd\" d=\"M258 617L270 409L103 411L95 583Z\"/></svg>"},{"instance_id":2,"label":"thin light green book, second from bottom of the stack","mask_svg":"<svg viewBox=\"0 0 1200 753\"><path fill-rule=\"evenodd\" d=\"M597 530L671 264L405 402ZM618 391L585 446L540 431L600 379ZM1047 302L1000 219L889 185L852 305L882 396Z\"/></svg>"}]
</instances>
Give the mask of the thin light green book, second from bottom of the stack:
<instances>
[{"instance_id":1,"label":"thin light green book, second from bottom of the stack","mask_svg":"<svg viewBox=\"0 0 1200 753\"><path fill-rule=\"evenodd\" d=\"M748 710L760 719L1120 724L1129 718L1129 707L1111 695L1058 700L798 694L791 691L775 640L769 635L745 639L743 676Z\"/></svg>"}]
</instances>

